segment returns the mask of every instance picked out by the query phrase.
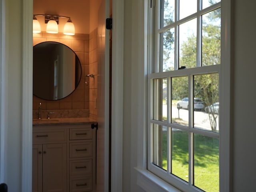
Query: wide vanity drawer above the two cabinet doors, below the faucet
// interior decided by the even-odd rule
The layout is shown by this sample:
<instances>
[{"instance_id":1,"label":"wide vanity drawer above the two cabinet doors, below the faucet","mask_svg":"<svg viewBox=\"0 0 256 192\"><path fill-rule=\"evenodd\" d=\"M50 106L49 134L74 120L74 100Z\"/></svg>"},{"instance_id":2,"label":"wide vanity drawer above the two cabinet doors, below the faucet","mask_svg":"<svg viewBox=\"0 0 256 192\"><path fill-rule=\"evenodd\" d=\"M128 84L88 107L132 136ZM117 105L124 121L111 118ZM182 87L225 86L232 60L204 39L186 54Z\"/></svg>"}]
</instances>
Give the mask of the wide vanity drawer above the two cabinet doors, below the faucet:
<instances>
[{"instance_id":1,"label":"wide vanity drawer above the two cabinet doors, below the faucet","mask_svg":"<svg viewBox=\"0 0 256 192\"><path fill-rule=\"evenodd\" d=\"M66 129L38 129L33 131L33 143L66 142Z\"/></svg>"}]
</instances>

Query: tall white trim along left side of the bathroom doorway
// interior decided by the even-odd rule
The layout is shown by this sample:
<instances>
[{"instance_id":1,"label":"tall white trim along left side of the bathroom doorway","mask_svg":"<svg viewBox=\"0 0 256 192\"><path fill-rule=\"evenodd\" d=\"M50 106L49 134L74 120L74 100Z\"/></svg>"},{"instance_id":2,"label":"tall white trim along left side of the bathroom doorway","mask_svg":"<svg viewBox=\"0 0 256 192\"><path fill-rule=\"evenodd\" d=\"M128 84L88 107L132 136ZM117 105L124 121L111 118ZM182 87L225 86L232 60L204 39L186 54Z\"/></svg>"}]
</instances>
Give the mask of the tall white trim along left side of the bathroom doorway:
<instances>
[{"instance_id":1,"label":"tall white trim along left side of the bathroom doorway","mask_svg":"<svg viewBox=\"0 0 256 192\"><path fill-rule=\"evenodd\" d=\"M32 190L33 0L23 0L22 192Z\"/></svg>"}]
</instances>

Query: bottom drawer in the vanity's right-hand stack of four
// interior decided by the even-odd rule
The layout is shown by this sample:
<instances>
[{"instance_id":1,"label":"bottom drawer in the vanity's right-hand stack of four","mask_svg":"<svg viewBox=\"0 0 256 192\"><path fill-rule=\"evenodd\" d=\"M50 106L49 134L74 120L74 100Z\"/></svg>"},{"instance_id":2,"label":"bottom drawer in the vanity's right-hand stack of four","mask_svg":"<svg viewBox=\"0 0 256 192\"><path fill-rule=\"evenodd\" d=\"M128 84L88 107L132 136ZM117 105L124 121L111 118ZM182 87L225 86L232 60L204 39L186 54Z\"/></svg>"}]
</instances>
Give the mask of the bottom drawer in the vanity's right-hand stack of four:
<instances>
[{"instance_id":1,"label":"bottom drawer in the vanity's right-hand stack of four","mask_svg":"<svg viewBox=\"0 0 256 192\"><path fill-rule=\"evenodd\" d=\"M79 176L70 178L70 192L92 191L92 176Z\"/></svg>"}]
</instances>

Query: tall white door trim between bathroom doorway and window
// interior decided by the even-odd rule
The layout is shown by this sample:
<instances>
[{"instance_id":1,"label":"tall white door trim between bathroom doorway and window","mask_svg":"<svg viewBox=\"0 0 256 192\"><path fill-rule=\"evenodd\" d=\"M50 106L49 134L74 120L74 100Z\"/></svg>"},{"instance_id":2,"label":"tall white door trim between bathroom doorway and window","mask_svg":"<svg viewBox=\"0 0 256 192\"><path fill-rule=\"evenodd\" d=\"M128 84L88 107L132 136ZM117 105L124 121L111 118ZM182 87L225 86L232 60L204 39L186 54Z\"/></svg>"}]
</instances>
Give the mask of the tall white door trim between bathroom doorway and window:
<instances>
[{"instance_id":1,"label":"tall white door trim between bathroom doorway and window","mask_svg":"<svg viewBox=\"0 0 256 192\"><path fill-rule=\"evenodd\" d=\"M112 0L111 191L122 191L124 0Z\"/></svg>"}]
</instances>

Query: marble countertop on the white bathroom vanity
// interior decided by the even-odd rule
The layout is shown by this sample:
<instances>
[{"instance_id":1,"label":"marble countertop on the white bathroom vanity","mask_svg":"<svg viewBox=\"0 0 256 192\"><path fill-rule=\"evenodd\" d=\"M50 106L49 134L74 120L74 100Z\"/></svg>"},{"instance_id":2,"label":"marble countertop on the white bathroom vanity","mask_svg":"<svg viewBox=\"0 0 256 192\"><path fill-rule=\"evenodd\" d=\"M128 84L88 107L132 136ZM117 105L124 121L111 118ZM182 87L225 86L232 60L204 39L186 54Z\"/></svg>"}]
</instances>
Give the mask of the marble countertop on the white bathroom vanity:
<instances>
[{"instance_id":1,"label":"marble countertop on the white bathroom vanity","mask_svg":"<svg viewBox=\"0 0 256 192\"><path fill-rule=\"evenodd\" d=\"M96 123L91 118L51 118L33 119L33 126L52 126L52 125L82 125Z\"/></svg>"}]
</instances>

